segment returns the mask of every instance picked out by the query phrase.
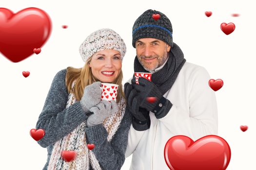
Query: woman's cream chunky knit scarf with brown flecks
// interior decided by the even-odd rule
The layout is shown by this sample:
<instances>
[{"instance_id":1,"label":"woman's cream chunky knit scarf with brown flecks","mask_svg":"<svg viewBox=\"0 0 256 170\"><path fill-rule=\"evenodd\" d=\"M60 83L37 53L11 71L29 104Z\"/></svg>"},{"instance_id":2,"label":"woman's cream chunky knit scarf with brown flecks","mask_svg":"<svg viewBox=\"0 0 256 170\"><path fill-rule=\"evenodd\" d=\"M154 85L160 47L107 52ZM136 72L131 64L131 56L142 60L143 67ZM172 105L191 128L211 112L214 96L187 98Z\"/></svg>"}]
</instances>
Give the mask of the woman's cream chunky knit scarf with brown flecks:
<instances>
[{"instance_id":1,"label":"woman's cream chunky knit scarf with brown flecks","mask_svg":"<svg viewBox=\"0 0 256 170\"><path fill-rule=\"evenodd\" d=\"M70 93L66 108L75 102L75 95ZM111 141L118 130L118 126L125 112L125 106L125 101L121 98L120 102L118 102L118 111L106 118L103 122L108 132L108 141ZM93 170L101 170L93 151L87 148L85 128L86 121L82 122L73 132L54 144L47 170L89 170L90 165ZM61 157L62 151L76 151L76 159L71 162L65 162Z\"/></svg>"}]
</instances>

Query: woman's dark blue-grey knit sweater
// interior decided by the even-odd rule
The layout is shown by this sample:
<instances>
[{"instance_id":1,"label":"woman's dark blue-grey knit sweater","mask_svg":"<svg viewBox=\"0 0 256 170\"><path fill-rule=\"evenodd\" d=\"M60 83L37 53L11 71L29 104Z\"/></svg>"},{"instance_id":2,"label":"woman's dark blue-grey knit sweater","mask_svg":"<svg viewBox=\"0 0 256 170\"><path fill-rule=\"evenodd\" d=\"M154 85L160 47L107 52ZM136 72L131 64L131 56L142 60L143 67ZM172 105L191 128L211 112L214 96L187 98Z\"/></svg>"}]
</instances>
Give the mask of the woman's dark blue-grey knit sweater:
<instances>
[{"instance_id":1,"label":"woman's dark blue-grey knit sweater","mask_svg":"<svg viewBox=\"0 0 256 170\"><path fill-rule=\"evenodd\" d=\"M89 114L83 111L79 101L66 108L68 92L65 76L66 69L62 69L54 77L36 125L36 129L45 130L45 135L38 141L39 145L47 147L48 151L43 170L47 170L53 144L89 117ZM95 145L92 151L103 170L120 170L123 165L131 122L132 115L125 112L116 134L109 142L107 131L102 124L86 128L87 143Z\"/></svg>"}]
</instances>

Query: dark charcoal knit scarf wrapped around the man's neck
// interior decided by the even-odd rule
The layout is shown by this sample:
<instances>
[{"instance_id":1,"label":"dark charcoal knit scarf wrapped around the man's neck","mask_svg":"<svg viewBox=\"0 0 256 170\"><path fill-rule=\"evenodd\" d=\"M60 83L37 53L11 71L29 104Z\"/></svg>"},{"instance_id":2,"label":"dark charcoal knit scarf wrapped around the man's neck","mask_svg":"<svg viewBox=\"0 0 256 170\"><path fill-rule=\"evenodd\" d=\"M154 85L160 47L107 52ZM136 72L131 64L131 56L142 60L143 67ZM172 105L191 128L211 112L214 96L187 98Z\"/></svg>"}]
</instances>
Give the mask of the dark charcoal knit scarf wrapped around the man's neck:
<instances>
[{"instance_id":1,"label":"dark charcoal knit scarf wrapped around the man's neck","mask_svg":"<svg viewBox=\"0 0 256 170\"><path fill-rule=\"evenodd\" d=\"M162 95L171 89L185 62L186 59L184 59L183 52L174 43L169 52L168 61L163 68L153 73L151 78L151 81L157 85ZM140 65L137 57L134 60L134 72L149 72Z\"/></svg>"}]
</instances>

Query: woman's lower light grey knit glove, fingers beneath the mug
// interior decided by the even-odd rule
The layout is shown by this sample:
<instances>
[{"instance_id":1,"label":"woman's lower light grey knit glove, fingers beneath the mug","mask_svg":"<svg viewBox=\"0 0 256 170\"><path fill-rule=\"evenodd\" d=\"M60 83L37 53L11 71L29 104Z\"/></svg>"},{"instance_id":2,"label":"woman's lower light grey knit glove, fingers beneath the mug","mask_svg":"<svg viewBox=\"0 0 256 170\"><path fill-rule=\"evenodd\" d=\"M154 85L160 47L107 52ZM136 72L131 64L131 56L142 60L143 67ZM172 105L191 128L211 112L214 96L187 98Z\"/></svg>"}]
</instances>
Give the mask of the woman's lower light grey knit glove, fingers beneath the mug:
<instances>
[{"instance_id":1,"label":"woman's lower light grey knit glove, fingers beneath the mug","mask_svg":"<svg viewBox=\"0 0 256 170\"><path fill-rule=\"evenodd\" d=\"M92 107L90 112L93 112L91 116L87 119L87 126L94 126L103 123L103 120L110 115L118 111L118 104L115 101L100 101L97 106Z\"/></svg>"}]
</instances>

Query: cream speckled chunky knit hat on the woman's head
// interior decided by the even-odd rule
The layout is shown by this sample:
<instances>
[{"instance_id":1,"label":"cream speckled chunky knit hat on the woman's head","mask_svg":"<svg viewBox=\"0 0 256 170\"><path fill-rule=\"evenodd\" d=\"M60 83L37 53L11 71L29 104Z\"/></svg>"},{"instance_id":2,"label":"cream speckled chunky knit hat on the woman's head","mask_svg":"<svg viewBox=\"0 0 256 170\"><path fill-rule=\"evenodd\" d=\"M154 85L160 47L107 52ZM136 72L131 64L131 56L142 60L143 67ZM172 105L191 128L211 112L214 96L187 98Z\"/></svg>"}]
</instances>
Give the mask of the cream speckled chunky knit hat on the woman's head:
<instances>
[{"instance_id":1,"label":"cream speckled chunky knit hat on the woman's head","mask_svg":"<svg viewBox=\"0 0 256 170\"><path fill-rule=\"evenodd\" d=\"M121 54L121 60L123 60L126 46L119 34L111 29L104 28L90 34L79 48L84 62L101 50L117 50Z\"/></svg>"}]
</instances>

